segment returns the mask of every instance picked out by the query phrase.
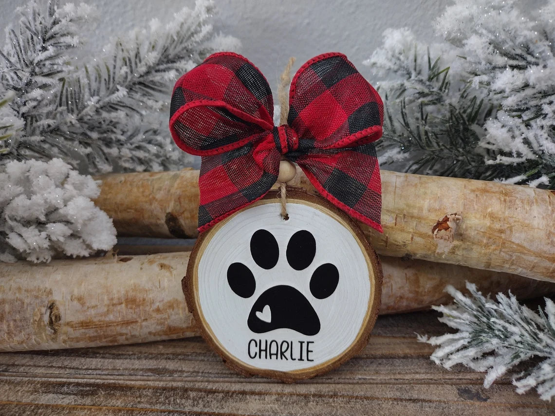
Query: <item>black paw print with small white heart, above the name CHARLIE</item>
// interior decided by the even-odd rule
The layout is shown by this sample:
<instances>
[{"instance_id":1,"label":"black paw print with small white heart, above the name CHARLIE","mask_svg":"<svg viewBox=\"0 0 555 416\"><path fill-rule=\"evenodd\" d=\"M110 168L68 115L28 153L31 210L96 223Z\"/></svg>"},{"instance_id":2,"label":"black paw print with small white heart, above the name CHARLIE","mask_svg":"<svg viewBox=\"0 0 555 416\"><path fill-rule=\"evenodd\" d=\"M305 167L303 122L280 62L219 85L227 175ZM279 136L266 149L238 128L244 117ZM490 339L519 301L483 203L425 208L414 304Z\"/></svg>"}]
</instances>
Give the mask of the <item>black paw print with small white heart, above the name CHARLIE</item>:
<instances>
[{"instance_id":1,"label":"black paw print with small white heart, above the name CHARLIE","mask_svg":"<svg viewBox=\"0 0 555 416\"><path fill-rule=\"evenodd\" d=\"M261 268L274 268L279 259L279 246L267 230L256 231L250 239L250 253ZM306 230L295 232L287 243L287 263L294 270L309 267L316 255L316 240ZM287 273L288 271L284 271ZM335 292L339 271L331 263L316 268L310 277L310 293L316 299L325 299ZM256 290L253 272L243 263L233 263L228 268L228 283L236 295L249 298ZM254 302L248 318L251 331L263 333L278 328L289 328L304 335L320 332L320 319L309 300L292 286L270 287Z\"/></svg>"}]
</instances>

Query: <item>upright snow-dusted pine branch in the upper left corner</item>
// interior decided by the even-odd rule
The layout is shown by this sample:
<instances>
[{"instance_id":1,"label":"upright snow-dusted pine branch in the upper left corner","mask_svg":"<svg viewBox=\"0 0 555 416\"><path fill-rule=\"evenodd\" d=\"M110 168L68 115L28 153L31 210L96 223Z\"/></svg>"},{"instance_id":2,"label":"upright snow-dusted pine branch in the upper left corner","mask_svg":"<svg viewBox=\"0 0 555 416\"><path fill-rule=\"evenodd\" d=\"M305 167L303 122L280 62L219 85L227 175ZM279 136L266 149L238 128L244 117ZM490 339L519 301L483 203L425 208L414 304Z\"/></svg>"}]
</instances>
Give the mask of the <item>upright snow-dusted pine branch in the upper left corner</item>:
<instances>
[{"instance_id":1,"label":"upright snow-dusted pine branch in the upper left corner","mask_svg":"<svg viewBox=\"0 0 555 416\"><path fill-rule=\"evenodd\" d=\"M48 143L42 130L56 123L60 79L75 71L69 53L80 45L78 30L90 10L73 4L60 8L56 1L47 6L30 1L16 10L18 26L7 29L0 50L0 95L14 93L9 105L24 126L9 139L9 152L0 156L0 164L58 154L56 143Z\"/></svg>"}]
</instances>

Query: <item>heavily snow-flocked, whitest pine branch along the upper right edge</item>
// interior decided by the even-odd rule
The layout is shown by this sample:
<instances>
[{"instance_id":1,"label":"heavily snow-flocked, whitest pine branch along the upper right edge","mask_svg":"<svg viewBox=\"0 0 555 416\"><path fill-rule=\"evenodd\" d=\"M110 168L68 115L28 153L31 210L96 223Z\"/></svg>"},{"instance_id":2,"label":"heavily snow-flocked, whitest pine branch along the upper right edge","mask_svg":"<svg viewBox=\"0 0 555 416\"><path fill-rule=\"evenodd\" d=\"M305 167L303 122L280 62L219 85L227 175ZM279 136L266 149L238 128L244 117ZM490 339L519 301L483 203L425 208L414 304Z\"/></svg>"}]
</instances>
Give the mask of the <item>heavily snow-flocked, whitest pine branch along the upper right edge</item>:
<instances>
[{"instance_id":1,"label":"heavily snow-flocked, whitest pine branch along the upper right edge","mask_svg":"<svg viewBox=\"0 0 555 416\"><path fill-rule=\"evenodd\" d=\"M555 187L555 2L526 13L515 0L472 0L448 7L438 32L456 46L475 87L499 107L486 120L488 164L520 165L512 176L534 175Z\"/></svg>"}]
</instances>

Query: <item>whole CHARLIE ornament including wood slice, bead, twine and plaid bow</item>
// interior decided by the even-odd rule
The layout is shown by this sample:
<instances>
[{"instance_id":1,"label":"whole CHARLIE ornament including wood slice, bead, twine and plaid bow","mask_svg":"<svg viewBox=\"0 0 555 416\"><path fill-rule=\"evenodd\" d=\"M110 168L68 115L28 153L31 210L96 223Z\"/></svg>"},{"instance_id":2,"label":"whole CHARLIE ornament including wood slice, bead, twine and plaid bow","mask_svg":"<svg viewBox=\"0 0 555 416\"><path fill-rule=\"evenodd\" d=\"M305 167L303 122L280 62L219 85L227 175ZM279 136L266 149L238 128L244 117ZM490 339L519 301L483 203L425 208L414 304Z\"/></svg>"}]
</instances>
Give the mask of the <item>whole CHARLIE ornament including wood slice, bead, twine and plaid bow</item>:
<instances>
[{"instance_id":1,"label":"whole CHARLIE ornament including wood slice, bead, twine and plaid bow","mask_svg":"<svg viewBox=\"0 0 555 416\"><path fill-rule=\"evenodd\" d=\"M340 53L306 62L289 106L283 95L275 126L264 75L240 55L213 54L175 84L170 131L203 156L188 307L228 366L295 381L359 352L376 320L381 267L351 217L382 231L372 142L383 104ZM286 189L291 162L322 197Z\"/></svg>"}]
</instances>

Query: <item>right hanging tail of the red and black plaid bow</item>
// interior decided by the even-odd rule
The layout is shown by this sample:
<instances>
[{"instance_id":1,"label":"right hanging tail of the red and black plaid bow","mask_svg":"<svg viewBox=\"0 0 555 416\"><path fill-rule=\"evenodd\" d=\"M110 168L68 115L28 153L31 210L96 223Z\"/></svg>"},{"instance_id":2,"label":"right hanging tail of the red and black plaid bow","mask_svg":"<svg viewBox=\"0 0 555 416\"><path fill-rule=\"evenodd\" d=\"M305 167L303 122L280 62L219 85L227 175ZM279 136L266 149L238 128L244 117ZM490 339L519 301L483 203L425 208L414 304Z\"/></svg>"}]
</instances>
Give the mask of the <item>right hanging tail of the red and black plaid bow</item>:
<instances>
[{"instance_id":1,"label":"right hanging tail of the red and black plaid bow","mask_svg":"<svg viewBox=\"0 0 555 416\"><path fill-rule=\"evenodd\" d=\"M381 177L374 144L326 150L295 158L328 201L373 229L381 226Z\"/></svg>"}]
</instances>

